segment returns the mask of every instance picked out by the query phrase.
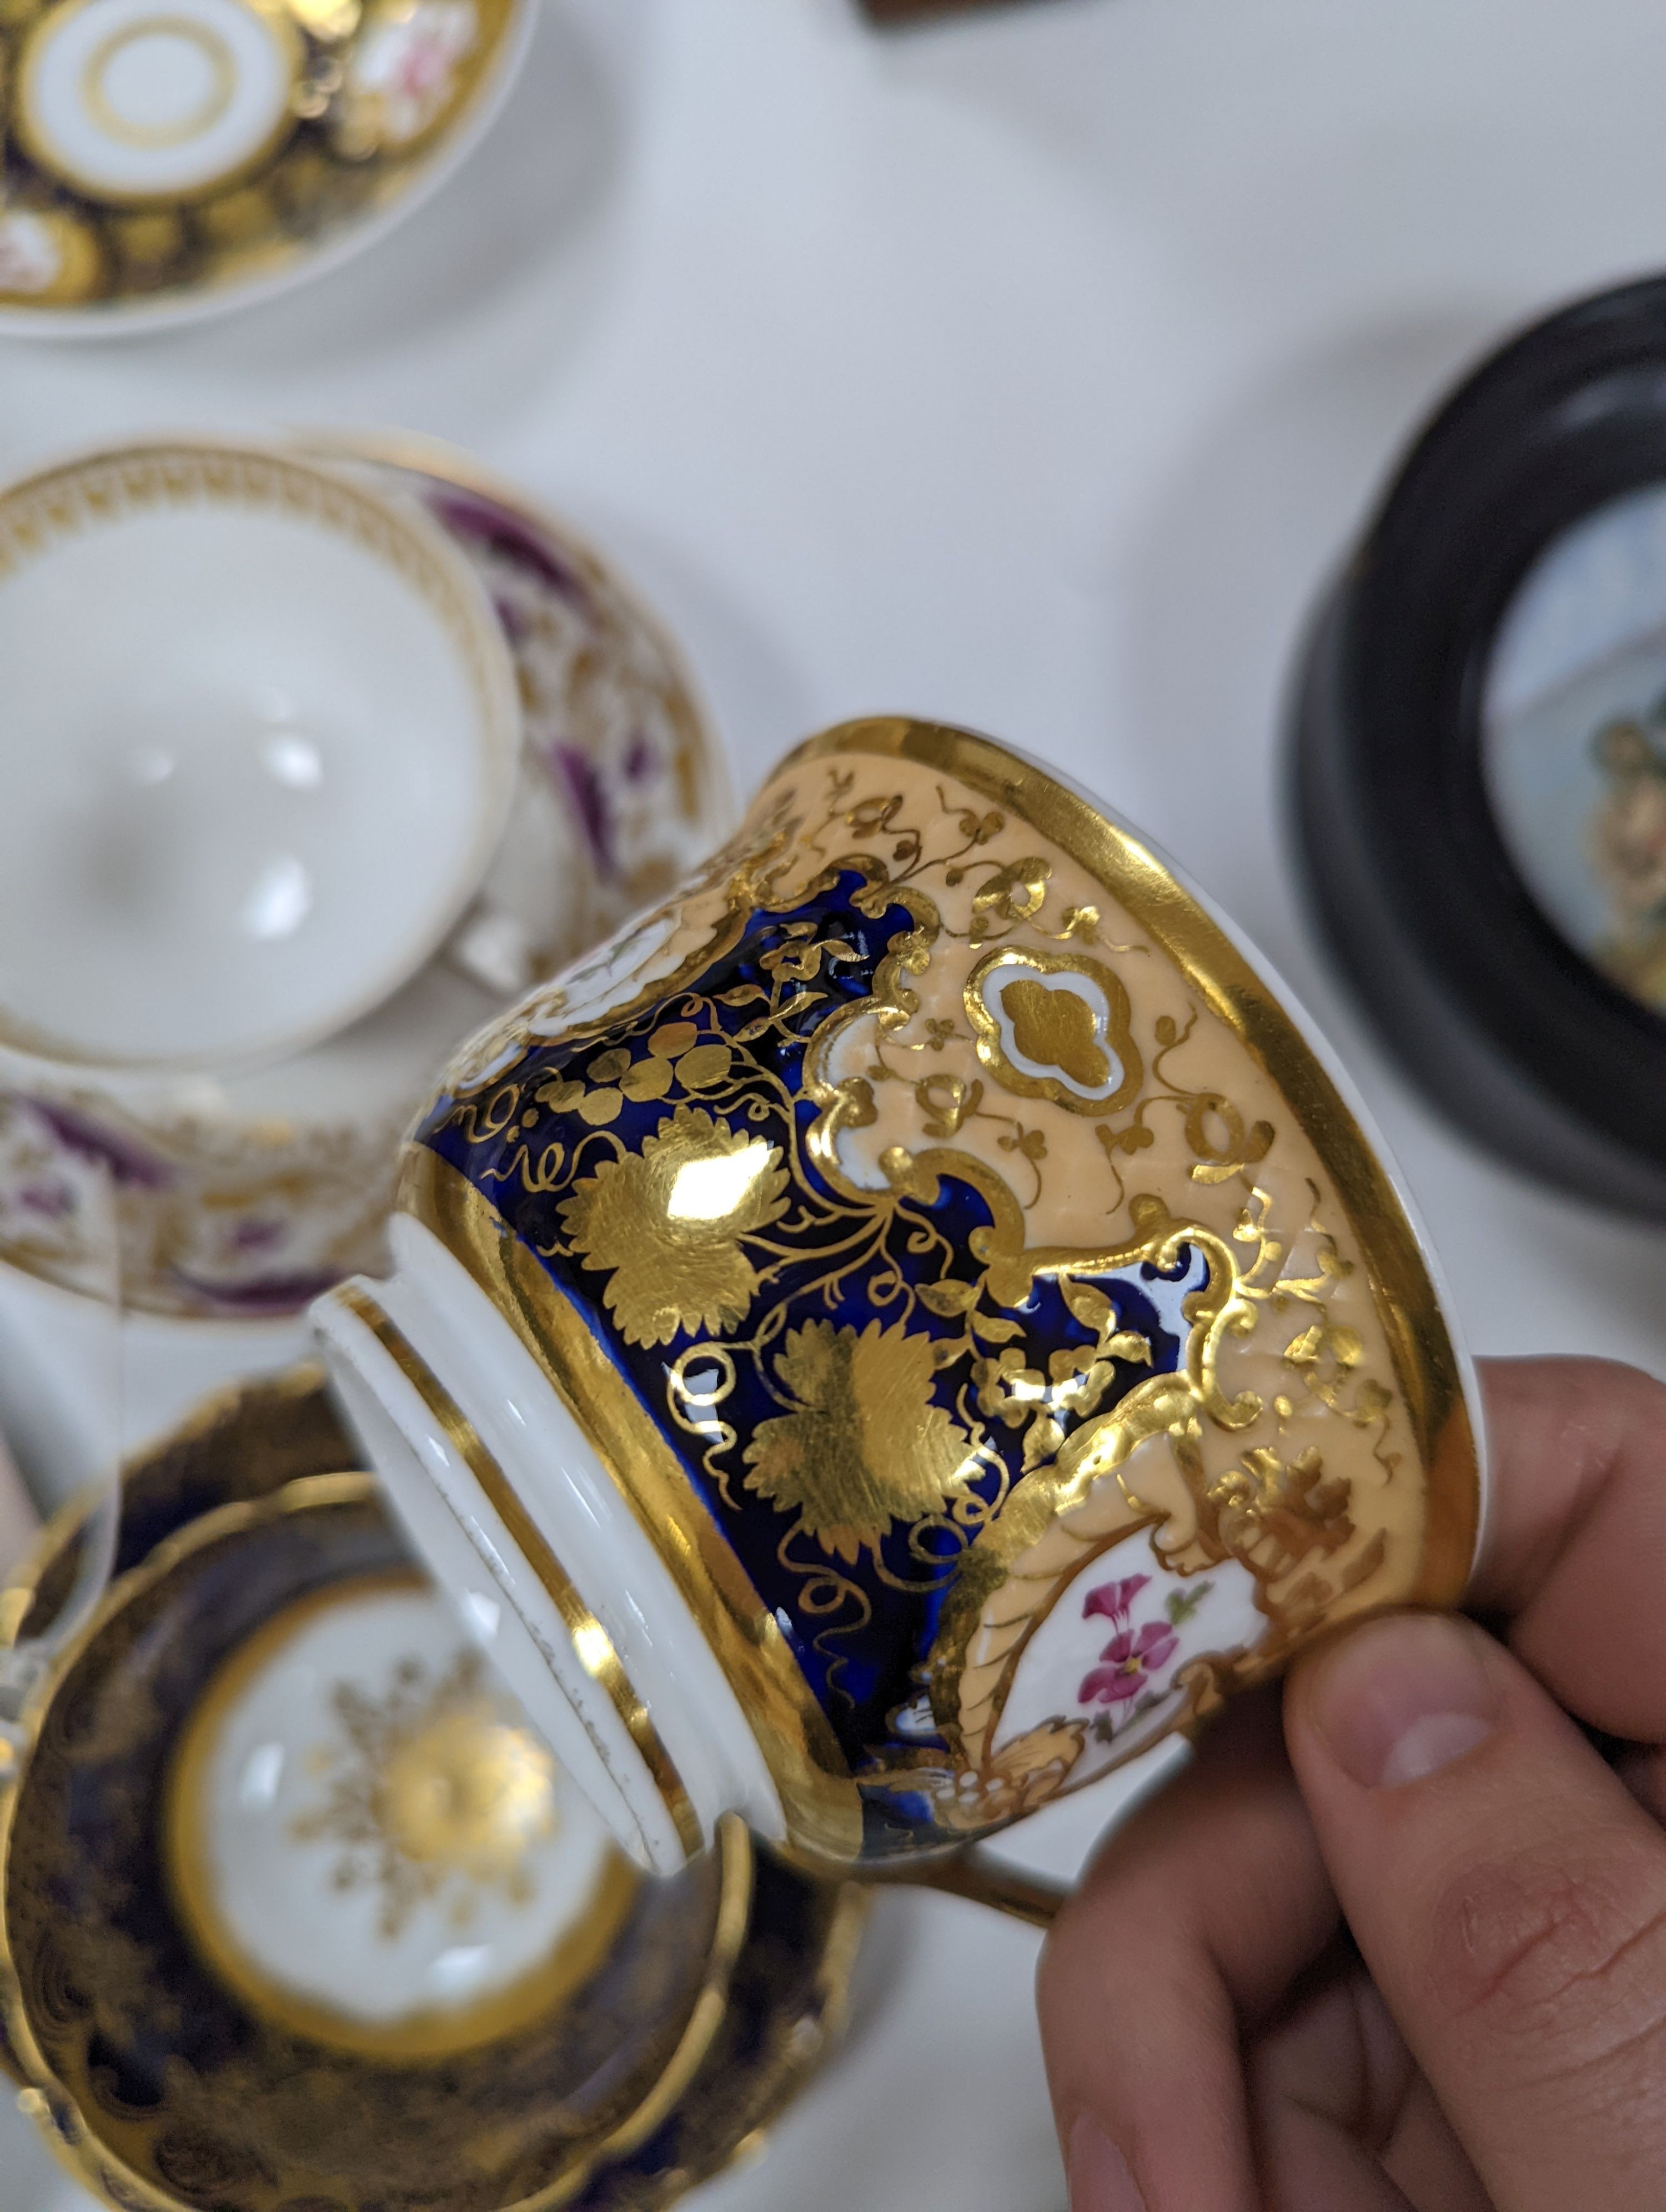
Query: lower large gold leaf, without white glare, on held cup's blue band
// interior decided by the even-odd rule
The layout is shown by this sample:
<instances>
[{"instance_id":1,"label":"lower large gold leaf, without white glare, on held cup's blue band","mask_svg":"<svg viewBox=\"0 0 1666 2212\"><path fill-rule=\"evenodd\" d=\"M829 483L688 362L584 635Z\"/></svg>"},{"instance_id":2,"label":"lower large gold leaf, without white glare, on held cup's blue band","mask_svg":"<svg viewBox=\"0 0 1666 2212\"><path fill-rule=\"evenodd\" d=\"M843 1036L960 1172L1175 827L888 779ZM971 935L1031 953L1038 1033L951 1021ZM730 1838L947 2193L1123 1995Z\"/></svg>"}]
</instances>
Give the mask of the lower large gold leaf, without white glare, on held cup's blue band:
<instances>
[{"instance_id":1,"label":"lower large gold leaf, without white glare, on held cup's blue band","mask_svg":"<svg viewBox=\"0 0 1666 2212\"><path fill-rule=\"evenodd\" d=\"M746 1486L845 1562L878 1551L892 1522L943 1513L976 1460L965 1429L931 1402L931 1338L900 1323L790 1329L774 1374L796 1409L759 1422Z\"/></svg>"}]
</instances>

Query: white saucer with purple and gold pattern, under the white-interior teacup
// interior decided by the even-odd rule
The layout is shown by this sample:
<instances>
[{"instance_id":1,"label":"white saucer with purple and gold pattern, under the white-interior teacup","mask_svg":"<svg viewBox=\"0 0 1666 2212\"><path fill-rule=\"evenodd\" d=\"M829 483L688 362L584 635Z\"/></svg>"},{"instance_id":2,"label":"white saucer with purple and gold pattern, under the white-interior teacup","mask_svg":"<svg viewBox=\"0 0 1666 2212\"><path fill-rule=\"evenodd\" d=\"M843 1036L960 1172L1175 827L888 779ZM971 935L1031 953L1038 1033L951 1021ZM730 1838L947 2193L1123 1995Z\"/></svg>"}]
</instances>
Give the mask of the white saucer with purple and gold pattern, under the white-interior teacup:
<instances>
[{"instance_id":1,"label":"white saucer with purple and gold pattern, under the white-interior teacup","mask_svg":"<svg viewBox=\"0 0 1666 2212\"><path fill-rule=\"evenodd\" d=\"M305 1053L208 1097L91 1071L22 1084L0 1066L0 1261L95 1285L106 1166L124 1296L148 1312L292 1312L376 1272L400 1130L456 1040L684 876L730 818L721 750L675 646L564 522L429 442L356 440L327 465L427 509L496 606L522 701L511 825L447 949Z\"/></svg>"}]
</instances>

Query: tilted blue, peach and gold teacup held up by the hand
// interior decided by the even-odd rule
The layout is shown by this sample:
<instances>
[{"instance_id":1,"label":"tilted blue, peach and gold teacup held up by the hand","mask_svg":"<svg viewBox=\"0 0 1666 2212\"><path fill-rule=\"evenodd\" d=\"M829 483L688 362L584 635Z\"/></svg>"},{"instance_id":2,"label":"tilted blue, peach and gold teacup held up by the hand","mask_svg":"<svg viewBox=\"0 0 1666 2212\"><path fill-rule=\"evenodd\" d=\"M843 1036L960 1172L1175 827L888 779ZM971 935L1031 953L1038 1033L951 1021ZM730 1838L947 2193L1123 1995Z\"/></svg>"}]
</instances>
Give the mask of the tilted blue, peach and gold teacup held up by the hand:
<instances>
[{"instance_id":1,"label":"tilted blue, peach and gold teacup held up by the hand","mask_svg":"<svg viewBox=\"0 0 1666 2212\"><path fill-rule=\"evenodd\" d=\"M615 1834L991 1834L1462 1593L1478 1427L1361 1110L1004 748L847 723L454 1062L316 1307L418 1546Z\"/></svg>"}]
</instances>

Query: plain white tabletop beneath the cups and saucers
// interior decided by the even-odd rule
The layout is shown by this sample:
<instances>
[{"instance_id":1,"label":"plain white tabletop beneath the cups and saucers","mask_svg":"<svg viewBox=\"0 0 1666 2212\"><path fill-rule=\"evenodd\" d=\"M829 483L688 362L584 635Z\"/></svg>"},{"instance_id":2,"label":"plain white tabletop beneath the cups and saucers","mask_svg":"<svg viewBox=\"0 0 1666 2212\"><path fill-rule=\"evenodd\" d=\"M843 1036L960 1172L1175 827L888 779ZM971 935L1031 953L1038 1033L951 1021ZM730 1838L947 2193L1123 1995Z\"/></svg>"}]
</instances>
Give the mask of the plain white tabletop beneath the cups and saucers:
<instances>
[{"instance_id":1,"label":"plain white tabletop beneath the cups and saucers","mask_svg":"<svg viewBox=\"0 0 1666 2212\"><path fill-rule=\"evenodd\" d=\"M137 425L407 425L584 524L679 630L746 790L914 710L1144 823L1330 1026L1480 1352L1666 1371L1666 1239L1498 1168L1383 1062L1290 883L1279 708L1314 586L1431 394L1666 261L1659 0L546 0L496 135L405 230L179 336L0 347L0 469ZM137 1349L144 1429L281 1332ZM0 1391L64 1486L62 1301ZM1066 1865L1093 1798L1027 1854ZM892 1898L863 2033L708 2212L1058 2212L1035 1940ZM1106 2022L1106 2033L1117 2031ZM2 2212L58 2212L0 2121ZM80 2199L73 2199L80 2203Z\"/></svg>"}]
</instances>

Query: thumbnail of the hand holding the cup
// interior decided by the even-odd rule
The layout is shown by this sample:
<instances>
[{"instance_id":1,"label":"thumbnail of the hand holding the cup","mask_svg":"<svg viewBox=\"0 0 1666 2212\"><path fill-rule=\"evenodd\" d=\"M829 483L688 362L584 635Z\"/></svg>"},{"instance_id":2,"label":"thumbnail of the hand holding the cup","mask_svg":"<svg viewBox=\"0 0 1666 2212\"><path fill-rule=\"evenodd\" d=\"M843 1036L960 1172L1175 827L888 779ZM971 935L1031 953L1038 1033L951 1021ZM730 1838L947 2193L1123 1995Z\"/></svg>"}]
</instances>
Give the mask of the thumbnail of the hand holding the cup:
<instances>
[{"instance_id":1,"label":"thumbnail of the hand holding the cup","mask_svg":"<svg viewBox=\"0 0 1666 2212\"><path fill-rule=\"evenodd\" d=\"M1498 1723L1480 1630L1440 1615L1372 1621L1319 1661L1308 1705L1336 1765L1398 1790L1474 1752Z\"/></svg>"}]
</instances>

